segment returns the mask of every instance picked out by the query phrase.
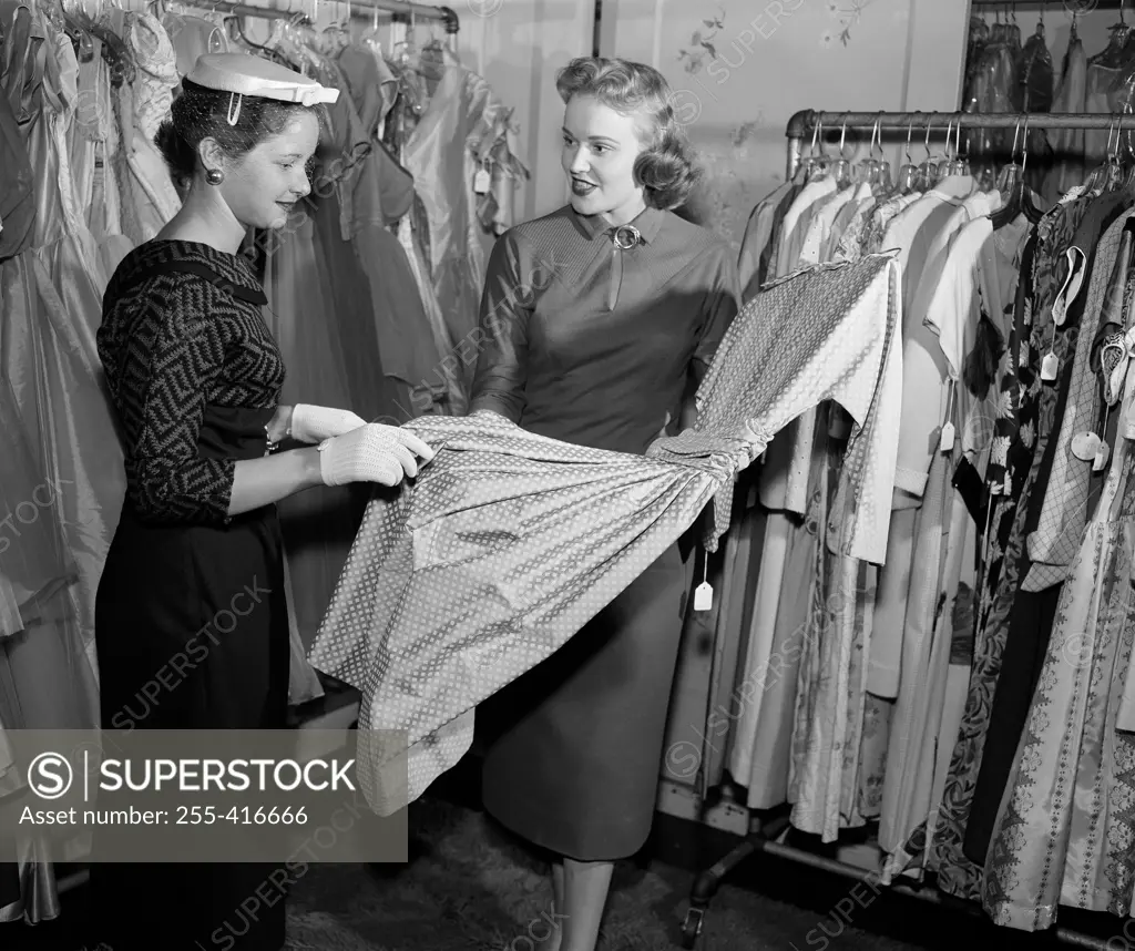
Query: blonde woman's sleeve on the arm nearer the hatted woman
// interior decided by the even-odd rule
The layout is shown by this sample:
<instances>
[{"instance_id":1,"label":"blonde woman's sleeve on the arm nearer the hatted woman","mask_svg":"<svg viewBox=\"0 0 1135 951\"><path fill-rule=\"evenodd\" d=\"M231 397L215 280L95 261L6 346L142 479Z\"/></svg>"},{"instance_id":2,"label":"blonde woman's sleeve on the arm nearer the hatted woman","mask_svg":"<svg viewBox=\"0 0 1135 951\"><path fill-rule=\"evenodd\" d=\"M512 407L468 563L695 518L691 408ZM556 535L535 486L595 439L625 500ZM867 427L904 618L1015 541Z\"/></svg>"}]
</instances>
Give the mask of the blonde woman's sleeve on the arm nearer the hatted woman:
<instances>
[{"instance_id":1,"label":"blonde woman's sleeve on the arm nearer the hatted woman","mask_svg":"<svg viewBox=\"0 0 1135 951\"><path fill-rule=\"evenodd\" d=\"M524 412L528 321L533 288L522 278L520 246L505 233L493 246L481 295L481 338L470 412L491 410L514 423Z\"/></svg>"}]
</instances>

